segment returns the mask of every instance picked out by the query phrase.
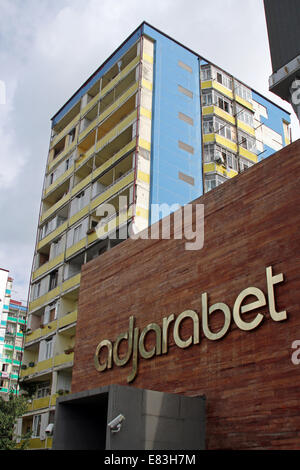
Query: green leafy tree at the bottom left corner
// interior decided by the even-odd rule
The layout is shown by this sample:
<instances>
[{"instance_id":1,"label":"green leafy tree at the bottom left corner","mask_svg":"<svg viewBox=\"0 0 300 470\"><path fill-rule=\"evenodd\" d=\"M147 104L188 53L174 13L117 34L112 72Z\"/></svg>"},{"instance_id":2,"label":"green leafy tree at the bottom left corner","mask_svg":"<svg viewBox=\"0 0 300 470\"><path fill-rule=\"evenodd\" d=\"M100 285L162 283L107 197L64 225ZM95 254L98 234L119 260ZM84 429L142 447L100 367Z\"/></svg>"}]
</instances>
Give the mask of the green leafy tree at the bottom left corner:
<instances>
[{"instance_id":1,"label":"green leafy tree at the bottom left corner","mask_svg":"<svg viewBox=\"0 0 300 470\"><path fill-rule=\"evenodd\" d=\"M27 399L10 393L8 401L0 397L0 450L24 449L29 436L22 436L24 441L20 446L16 442L15 424L27 409ZM18 436L21 437L21 436Z\"/></svg>"}]
</instances>

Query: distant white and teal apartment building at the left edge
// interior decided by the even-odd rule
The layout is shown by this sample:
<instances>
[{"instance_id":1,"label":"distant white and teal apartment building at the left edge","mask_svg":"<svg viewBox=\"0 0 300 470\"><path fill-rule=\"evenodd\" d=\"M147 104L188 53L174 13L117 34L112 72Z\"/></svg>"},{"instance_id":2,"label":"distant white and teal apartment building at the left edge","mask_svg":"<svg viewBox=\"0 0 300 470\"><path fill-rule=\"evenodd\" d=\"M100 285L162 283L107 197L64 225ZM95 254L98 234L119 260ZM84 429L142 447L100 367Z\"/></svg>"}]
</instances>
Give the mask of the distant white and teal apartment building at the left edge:
<instances>
[{"instance_id":1,"label":"distant white and teal apartment building at the left edge","mask_svg":"<svg viewBox=\"0 0 300 470\"><path fill-rule=\"evenodd\" d=\"M19 375L23 355L27 307L12 300L13 279L0 268L0 396L19 394Z\"/></svg>"}]
</instances>

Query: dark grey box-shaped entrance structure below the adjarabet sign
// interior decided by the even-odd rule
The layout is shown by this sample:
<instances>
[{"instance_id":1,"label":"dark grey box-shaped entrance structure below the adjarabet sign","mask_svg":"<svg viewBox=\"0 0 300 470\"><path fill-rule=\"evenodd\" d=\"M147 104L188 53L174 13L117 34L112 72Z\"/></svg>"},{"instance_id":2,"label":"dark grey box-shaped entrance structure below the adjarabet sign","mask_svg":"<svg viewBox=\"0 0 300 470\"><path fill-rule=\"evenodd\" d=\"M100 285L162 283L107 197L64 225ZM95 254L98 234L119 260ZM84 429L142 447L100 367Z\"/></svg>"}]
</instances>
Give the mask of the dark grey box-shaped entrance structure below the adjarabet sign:
<instances>
[{"instance_id":1,"label":"dark grey box-shaped entrance structure below the adjarabet sign","mask_svg":"<svg viewBox=\"0 0 300 470\"><path fill-rule=\"evenodd\" d=\"M119 432L107 426L122 414ZM205 398L112 385L57 401L53 449L204 449Z\"/></svg>"}]
</instances>

